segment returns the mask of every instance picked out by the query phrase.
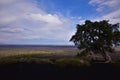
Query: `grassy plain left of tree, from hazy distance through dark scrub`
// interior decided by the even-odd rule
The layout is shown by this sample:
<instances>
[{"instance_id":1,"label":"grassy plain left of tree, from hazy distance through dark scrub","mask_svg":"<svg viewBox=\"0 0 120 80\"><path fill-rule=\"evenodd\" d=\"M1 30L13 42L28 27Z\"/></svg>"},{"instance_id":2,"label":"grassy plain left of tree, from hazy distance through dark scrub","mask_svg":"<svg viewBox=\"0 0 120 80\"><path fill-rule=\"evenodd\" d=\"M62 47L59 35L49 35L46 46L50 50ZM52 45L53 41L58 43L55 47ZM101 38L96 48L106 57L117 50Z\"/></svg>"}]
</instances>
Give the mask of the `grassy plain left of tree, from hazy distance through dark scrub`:
<instances>
[{"instance_id":1,"label":"grassy plain left of tree, from hazy distance through dark scrub","mask_svg":"<svg viewBox=\"0 0 120 80\"><path fill-rule=\"evenodd\" d=\"M39 63L57 66L83 66L89 65L87 60L77 58L76 48L71 47L1 47L0 64L11 63Z\"/></svg>"}]
</instances>

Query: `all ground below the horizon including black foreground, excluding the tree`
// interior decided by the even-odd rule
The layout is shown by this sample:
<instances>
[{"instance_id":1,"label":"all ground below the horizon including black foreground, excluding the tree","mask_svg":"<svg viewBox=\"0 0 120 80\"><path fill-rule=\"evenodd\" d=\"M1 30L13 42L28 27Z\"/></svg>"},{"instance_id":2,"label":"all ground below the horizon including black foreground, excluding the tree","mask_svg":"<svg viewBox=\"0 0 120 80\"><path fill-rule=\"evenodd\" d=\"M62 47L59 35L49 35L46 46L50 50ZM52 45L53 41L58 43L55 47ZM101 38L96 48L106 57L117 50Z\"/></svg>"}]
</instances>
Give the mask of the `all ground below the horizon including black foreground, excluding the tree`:
<instances>
[{"instance_id":1,"label":"all ground below the horizon including black foreground, excluding the tree","mask_svg":"<svg viewBox=\"0 0 120 80\"><path fill-rule=\"evenodd\" d=\"M74 47L0 47L0 80L119 80L120 55L109 64L75 57Z\"/></svg>"}]
</instances>

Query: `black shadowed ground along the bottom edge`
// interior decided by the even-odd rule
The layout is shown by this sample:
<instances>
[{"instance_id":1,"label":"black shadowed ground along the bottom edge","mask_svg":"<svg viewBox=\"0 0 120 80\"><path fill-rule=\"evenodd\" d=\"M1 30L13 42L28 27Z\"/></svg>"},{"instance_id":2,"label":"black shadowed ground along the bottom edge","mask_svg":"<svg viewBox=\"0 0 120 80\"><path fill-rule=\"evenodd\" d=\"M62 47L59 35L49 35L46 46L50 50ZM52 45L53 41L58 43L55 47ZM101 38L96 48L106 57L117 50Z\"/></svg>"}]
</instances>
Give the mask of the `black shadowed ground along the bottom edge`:
<instances>
[{"instance_id":1,"label":"black shadowed ground along the bottom edge","mask_svg":"<svg viewBox=\"0 0 120 80\"><path fill-rule=\"evenodd\" d=\"M16 63L0 66L0 80L119 80L120 65L57 67L49 64Z\"/></svg>"}]
</instances>

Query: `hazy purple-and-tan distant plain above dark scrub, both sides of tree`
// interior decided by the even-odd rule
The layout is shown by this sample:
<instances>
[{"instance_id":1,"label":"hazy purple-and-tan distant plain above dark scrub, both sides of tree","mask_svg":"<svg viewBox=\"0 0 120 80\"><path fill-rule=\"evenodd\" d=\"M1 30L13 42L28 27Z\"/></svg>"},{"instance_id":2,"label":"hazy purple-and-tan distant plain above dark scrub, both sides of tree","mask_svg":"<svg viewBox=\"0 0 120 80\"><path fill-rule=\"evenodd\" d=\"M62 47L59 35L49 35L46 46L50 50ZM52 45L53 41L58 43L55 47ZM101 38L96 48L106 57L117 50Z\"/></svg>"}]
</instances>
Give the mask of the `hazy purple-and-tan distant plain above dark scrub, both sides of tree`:
<instances>
[{"instance_id":1,"label":"hazy purple-and-tan distant plain above dark scrub, both sides of tree","mask_svg":"<svg viewBox=\"0 0 120 80\"><path fill-rule=\"evenodd\" d=\"M75 46L68 45L1 45L0 58L9 56L38 54L38 57L75 57L80 51ZM37 57L36 56L36 57ZM120 57L120 48L115 48L111 54L114 59Z\"/></svg>"}]
</instances>

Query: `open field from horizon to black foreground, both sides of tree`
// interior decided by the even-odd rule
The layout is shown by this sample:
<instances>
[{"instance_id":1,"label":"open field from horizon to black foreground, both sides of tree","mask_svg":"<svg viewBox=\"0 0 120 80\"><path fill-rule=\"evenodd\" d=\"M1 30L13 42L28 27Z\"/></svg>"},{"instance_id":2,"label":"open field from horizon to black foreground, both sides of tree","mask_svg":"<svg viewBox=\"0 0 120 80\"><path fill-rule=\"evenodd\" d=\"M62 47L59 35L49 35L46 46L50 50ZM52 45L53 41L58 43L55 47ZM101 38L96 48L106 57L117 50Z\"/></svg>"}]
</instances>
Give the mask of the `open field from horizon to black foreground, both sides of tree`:
<instances>
[{"instance_id":1,"label":"open field from horizon to black foreground, both sides of tree","mask_svg":"<svg viewBox=\"0 0 120 80\"><path fill-rule=\"evenodd\" d=\"M75 58L79 50L74 46L40 46L40 45L3 45L0 46L0 63L38 62L41 59ZM120 48L110 54L113 61L120 61ZM96 57L101 57L96 55ZM89 60L87 57L85 58Z\"/></svg>"}]
</instances>

